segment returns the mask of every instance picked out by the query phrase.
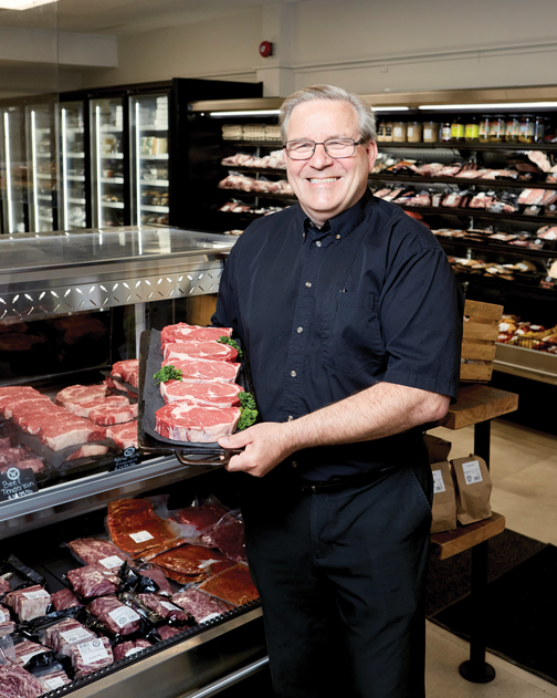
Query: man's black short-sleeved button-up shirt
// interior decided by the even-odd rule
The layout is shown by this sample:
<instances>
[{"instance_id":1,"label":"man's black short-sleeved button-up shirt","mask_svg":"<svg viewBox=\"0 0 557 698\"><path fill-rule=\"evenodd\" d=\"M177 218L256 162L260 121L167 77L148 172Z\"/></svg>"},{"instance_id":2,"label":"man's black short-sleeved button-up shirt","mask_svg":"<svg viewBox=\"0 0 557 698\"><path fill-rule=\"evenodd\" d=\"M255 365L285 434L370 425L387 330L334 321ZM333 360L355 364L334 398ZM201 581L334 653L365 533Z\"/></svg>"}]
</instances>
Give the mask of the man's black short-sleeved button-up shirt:
<instances>
[{"instance_id":1,"label":"man's black short-sleeved button-up shirt","mask_svg":"<svg viewBox=\"0 0 557 698\"><path fill-rule=\"evenodd\" d=\"M434 236L368 190L320 229L299 205L234 244L212 322L233 327L264 421L296 419L386 381L456 396L463 301ZM297 452L306 480L401 462L416 434Z\"/></svg>"}]
</instances>

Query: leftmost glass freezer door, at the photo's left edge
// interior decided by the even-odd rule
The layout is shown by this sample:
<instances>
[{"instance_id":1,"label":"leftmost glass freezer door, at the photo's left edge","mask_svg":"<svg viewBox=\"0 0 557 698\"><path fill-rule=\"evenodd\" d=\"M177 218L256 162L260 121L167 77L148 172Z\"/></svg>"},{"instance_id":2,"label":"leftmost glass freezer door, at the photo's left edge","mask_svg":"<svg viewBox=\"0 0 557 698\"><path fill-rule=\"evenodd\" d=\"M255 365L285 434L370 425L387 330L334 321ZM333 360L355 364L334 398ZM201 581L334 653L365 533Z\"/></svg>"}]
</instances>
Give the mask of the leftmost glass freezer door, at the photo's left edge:
<instances>
[{"instance_id":1,"label":"leftmost glass freezer door, at the photo's left edge","mask_svg":"<svg viewBox=\"0 0 557 698\"><path fill-rule=\"evenodd\" d=\"M2 232L28 232L28 183L23 110L0 110L0 178L2 183Z\"/></svg>"}]
</instances>

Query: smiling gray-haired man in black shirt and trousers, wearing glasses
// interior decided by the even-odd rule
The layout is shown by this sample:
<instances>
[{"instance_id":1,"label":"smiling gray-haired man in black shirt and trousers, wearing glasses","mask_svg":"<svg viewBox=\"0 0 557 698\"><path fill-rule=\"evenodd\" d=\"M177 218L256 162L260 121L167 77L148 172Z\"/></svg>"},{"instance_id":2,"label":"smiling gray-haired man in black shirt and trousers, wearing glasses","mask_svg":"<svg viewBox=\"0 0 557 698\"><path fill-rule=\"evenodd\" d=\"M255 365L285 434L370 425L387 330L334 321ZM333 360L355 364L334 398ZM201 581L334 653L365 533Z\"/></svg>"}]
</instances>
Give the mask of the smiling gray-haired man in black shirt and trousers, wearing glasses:
<instances>
[{"instance_id":1,"label":"smiling gray-haired man in black shirt and trousers, wearing glasses","mask_svg":"<svg viewBox=\"0 0 557 698\"><path fill-rule=\"evenodd\" d=\"M431 470L421 425L458 389L462 298L431 232L375 199L369 105L294 93L281 127L298 204L234 246L213 324L250 361L250 569L277 696L422 698ZM255 476L255 477L249 477Z\"/></svg>"}]
</instances>

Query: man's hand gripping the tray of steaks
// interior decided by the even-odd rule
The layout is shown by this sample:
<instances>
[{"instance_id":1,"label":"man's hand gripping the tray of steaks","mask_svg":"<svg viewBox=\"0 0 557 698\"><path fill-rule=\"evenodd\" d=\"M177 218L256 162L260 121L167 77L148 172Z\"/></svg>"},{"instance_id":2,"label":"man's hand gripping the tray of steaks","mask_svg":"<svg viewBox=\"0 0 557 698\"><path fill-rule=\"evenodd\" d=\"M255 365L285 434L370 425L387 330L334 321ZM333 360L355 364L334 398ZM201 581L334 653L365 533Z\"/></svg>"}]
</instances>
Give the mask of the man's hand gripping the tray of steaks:
<instances>
[{"instance_id":1,"label":"man's hand gripping the tray of steaks","mask_svg":"<svg viewBox=\"0 0 557 698\"><path fill-rule=\"evenodd\" d=\"M232 456L227 469L248 472L256 478L266 475L295 450L288 427L290 424L265 421L219 439L222 448L245 447L242 454Z\"/></svg>"}]
</instances>

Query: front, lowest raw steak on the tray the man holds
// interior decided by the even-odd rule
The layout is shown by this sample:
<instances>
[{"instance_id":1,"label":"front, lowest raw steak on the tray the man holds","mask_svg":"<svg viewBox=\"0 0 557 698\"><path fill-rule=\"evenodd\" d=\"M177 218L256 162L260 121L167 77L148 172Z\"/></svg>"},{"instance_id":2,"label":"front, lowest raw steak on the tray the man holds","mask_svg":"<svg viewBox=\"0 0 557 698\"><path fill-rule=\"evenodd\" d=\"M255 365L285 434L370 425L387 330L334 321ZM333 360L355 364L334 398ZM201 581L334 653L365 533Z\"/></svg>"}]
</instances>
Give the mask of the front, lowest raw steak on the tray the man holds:
<instances>
[{"instance_id":1,"label":"front, lowest raw steak on the tray the man holds","mask_svg":"<svg viewBox=\"0 0 557 698\"><path fill-rule=\"evenodd\" d=\"M234 433L240 414L238 407L222 409L176 403L157 409L155 429L172 441L213 444Z\"/></svg>"}]
</instances>

